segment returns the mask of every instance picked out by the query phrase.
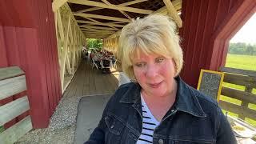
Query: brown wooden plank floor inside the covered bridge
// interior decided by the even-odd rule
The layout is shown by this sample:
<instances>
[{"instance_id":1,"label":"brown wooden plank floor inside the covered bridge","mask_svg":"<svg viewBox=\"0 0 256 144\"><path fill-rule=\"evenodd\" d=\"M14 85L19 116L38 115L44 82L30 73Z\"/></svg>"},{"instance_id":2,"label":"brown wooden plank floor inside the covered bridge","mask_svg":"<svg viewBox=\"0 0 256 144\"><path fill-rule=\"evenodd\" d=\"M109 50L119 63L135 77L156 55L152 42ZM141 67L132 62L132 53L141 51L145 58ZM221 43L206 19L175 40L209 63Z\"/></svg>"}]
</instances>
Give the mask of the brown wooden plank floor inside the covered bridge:
<instances>
[{"instance_id":1,"label":"brown wooden plank floor inside the covered bridge","mask_svg":"<svg viewBox=\"0 0 256 144\"><path fill-rule=\"evenodd\" d=\"M112 69L111 71L111 74L102 74L101 70L92 69L89 60L82 60L64 96L114 94L118 88L119 73Z\"/></svg>"}]
</instances>

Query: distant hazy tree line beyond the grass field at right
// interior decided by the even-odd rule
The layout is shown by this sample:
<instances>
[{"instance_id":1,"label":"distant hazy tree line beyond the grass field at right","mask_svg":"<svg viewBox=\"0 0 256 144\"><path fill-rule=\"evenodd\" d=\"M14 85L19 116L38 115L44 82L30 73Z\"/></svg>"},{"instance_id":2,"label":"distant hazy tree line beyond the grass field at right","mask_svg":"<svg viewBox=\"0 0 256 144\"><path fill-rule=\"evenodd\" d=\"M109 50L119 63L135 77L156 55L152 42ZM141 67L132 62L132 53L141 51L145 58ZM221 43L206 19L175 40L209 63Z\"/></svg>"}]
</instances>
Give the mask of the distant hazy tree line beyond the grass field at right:
<instances>
[{"instance_id":1,"label":"distant hazy tree line beyond the grass field at right","mask_svg":"<svg viewBox=\"0 0 256 144\"><path fill-rule=\"evenodd\" d=\"M246 44L244 42L230 43L228 53L256 55L256 45Z\"/></svg>"}]
</instances>

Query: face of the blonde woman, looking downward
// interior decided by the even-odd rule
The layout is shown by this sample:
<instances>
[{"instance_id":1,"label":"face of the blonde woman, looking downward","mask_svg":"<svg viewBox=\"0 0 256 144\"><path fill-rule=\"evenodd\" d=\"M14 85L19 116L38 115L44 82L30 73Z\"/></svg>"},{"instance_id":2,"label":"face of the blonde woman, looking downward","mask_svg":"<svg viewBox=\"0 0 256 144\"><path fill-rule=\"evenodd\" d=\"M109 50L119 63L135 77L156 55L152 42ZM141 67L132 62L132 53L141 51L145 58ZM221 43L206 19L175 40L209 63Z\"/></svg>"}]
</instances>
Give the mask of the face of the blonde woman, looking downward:
<instances>
[{"instance_id":1,"label":"face of the blonde woman, looking downward","mask_svg":"<svg viewBox=\"0 0 256 144\"><path fill-rule=\"evenodd\" d=\"M164 97L174 90L175 62L158 54L140 53L133 58L134 75L142 92L148 96Z\"/></svg>"}]
</instances>

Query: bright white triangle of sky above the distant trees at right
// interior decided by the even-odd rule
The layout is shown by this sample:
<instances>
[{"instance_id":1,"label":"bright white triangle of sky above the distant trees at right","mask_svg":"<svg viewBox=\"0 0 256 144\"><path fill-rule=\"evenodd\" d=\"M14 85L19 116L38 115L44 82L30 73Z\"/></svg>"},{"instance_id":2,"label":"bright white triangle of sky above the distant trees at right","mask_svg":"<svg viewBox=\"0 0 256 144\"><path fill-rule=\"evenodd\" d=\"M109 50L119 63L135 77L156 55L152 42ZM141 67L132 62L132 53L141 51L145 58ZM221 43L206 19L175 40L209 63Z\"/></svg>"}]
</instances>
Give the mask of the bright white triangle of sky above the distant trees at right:
<instances>
[{"instance_id":1,"label":"bright white triangle of sky above the distant trees at right","mask_svg":"<svg viewBox=\"0 0 256 144\"><path fill-rule=\"evenodd\" d=\"M256 13L244 26L230 39L230 42L246 42L256 44Z\"/></svg>"}]
</instances>

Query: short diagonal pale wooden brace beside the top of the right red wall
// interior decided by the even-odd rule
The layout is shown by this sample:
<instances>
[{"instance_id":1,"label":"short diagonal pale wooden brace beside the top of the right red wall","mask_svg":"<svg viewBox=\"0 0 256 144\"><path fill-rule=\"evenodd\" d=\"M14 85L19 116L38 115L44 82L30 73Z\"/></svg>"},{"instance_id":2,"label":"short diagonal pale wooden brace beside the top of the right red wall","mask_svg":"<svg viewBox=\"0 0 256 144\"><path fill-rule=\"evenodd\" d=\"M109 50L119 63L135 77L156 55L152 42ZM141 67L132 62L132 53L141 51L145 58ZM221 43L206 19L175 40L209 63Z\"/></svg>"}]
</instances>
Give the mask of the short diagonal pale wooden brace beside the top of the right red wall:
<instances>
[{"instance_id":1,"label":"short diagonal pale wooden brace beside the top of the right red wall","mask_svg":"<svg viewBox=\"0 0 256 144\"><path fill-rule=\"evenodd\" d=\"M166 8L172 18L174 18L174 21L177 23L178 27L182 27L182 19L178 16L177 10L175 10L173 4L170 2L170 0L163 0L163 2L166 5Z\"/></svg>"}]
</instances>

